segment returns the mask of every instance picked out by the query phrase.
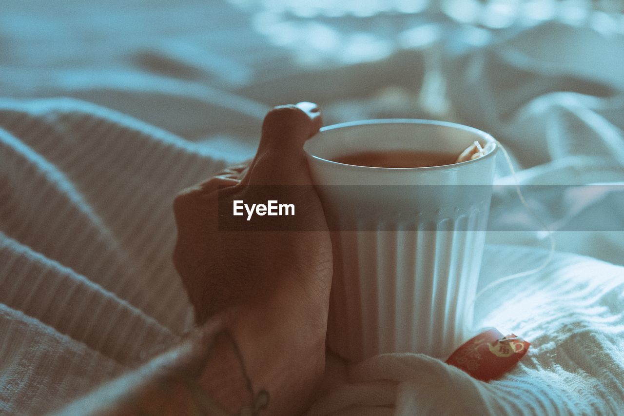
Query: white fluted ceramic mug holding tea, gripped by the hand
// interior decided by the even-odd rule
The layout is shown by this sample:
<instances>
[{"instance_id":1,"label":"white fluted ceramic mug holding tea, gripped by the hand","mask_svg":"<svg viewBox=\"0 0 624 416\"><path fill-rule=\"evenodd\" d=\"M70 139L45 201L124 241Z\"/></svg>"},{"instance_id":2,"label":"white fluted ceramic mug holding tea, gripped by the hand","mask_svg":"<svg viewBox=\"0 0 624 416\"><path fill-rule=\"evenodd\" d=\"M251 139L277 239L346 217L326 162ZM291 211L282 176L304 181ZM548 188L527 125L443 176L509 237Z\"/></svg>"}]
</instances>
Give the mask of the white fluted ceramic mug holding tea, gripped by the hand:
<instances>
[{"instance_id":1,"label":"white fluted ceramic mug holding tea, gripped by the hand","mask_svg":"<svg viewBox=\"0 0 624 416\"><path fill-rule=\"evenodd\" d=\"M447 166L334 162L366 151L485 156ZM323 127L311 175L333 232L328 345L349 360L386 352L447 357L472 325L494 182L495 140L450 122L389 119Z\"/></svg>"}]
</instances>

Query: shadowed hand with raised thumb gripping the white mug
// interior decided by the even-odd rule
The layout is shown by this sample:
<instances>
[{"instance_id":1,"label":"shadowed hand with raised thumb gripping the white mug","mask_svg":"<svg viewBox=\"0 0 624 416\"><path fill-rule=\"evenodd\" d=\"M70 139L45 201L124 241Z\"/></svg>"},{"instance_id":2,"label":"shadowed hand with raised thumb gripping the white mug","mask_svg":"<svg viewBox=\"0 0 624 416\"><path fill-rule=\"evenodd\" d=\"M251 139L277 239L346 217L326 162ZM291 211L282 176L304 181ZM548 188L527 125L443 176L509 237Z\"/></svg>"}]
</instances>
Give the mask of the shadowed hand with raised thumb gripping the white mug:
<instances>
[{"instance_id":1,"label":"shadowed hand with raised thumb gripping the white mug","mask_svg":"<svg viewBox=\"0 0 624 416\"><path fill-rule=\"evenodd\" d=\"M271 392L271 402L284 404L290 396L290 410L303 409L324 369L331 240L303 152L320 126L314 104L275 107L265 117L253 161L183 191L174 202L173 259L197 322L235 309L235 331L255 344L243 351L252 382L254 373L272 366L269 378L283 379L284 388ZM288 201L296 216L284 220L316 231L253 230L257 217L248 231L219 230L218 222L229 219L218 217L220 201L253 199L249 186L275 185L299 186Z\"/></svg>"}]
</instances>

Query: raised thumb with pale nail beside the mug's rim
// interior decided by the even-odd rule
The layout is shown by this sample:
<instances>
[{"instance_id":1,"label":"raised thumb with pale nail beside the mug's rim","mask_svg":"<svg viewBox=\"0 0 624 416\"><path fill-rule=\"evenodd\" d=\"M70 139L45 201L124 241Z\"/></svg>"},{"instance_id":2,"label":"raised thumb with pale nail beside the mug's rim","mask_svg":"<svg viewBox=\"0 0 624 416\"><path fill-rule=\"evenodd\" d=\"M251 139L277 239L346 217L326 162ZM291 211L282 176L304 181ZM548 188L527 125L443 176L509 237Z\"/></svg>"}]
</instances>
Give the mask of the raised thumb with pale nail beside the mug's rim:
<instances>
[{"instance_id":1,"label":"raised thumb with pale nail beside the mug's rim","mask_svg":"<svg viewBox=\"0 0 624 416\"><path fill-rule=\"evenodd\" d=\"M312 102L271 109L262 124L258 152L241 184L311 184L303 144L320 127L321 112Z\"/></svg>"}]
</instances>

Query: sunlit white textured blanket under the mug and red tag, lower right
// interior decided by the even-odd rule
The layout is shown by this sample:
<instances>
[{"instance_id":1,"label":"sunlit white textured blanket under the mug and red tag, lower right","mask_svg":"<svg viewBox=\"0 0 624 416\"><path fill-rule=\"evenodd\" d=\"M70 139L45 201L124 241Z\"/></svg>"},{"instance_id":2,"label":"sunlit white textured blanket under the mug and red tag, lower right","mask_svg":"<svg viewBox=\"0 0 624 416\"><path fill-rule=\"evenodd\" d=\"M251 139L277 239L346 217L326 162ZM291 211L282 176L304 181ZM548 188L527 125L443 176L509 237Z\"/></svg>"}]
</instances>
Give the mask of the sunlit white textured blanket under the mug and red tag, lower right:
<instances>
[{"instance_id":1,"label":"sunlit white textured blanket under the mug and red tag, lower right","mask_svg":"<svg viewBox=\"0 0 624 416\"><path fill-rule=\"evenodd\" d=\"M521 271L545 254L489 246L484 281ZM512 329L532 342L502 379L480 382L419 354L379 355L348 369L332 361L334 380L310 415L620 414L623 294L624 268L558 254L543 272L479 300L479 324Z\"/></svg>"}]
</instances>

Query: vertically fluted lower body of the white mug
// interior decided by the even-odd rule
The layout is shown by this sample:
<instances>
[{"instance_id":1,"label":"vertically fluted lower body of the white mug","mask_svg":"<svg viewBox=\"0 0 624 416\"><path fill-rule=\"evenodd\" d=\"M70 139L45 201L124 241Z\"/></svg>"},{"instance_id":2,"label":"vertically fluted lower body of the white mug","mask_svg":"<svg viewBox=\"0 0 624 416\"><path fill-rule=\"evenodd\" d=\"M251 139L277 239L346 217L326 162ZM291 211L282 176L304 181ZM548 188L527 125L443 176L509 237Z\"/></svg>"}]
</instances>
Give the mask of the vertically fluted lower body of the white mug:
<instances>
[{"instance_id":1,"label":"vertically fluted lower body of the white mug","mask_svg":"<svg viewBox=\"0 0 624 416\"><path fill-rule=\"evenodd\" d=\"M451 354L472 324L488 210L334 233L329 348L349 360Z\"/></svg>"}]
</instances>

